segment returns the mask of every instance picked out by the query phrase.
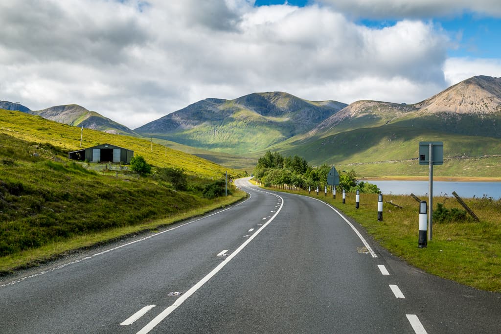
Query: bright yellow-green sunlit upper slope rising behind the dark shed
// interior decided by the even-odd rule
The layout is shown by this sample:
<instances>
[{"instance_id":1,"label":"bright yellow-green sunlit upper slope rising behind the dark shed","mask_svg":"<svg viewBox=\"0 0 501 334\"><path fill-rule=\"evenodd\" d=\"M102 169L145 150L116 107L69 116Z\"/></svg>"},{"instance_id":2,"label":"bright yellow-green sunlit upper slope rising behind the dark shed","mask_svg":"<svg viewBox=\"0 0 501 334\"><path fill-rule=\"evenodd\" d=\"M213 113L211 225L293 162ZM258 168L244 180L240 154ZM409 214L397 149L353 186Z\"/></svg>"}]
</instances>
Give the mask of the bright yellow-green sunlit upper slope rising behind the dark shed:
<instances>
[{"instance_id":1,"label":"bright yellow-green sunlit upper slope rising behind the dark shed","mask_svg":"<svg viewBox=\"0 0 501 334\"><path fill-rule=\"evenodd\" d=\"M18 111L0 110L0 131L35 143L50 143L68 151L80 148L81 128L46 120ZM149 139L113 135L96 130L83 130L82 148L99 144L112 144L134 151L154 166L175 166L187 173L204 177L220 176L226 168L181 151L151 143ZM231 170L232 174L239 173Z\"/></svg>"}]
</instances>

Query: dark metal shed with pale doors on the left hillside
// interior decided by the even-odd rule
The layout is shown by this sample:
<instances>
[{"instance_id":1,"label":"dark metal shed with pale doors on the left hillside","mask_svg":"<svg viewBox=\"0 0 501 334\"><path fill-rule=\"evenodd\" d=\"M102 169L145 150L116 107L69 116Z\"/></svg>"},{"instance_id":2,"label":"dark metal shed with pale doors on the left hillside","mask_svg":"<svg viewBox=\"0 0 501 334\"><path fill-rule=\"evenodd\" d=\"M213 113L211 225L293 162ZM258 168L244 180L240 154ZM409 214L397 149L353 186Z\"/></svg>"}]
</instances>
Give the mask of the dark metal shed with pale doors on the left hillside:
<instances>
[{"instance_id":1,"label":"dark metal shed with pale doors on the left hillside","mask_svg":"<svg viewBox=\"0 0 501 334\"><path fill-rule=\"evenodd\" d=\"M122 162L130 164L134 151L123 147L101 144L81 150L71 151L68 158L72 160L88 160L90 162Z\"/></svg>"}]
</instances>

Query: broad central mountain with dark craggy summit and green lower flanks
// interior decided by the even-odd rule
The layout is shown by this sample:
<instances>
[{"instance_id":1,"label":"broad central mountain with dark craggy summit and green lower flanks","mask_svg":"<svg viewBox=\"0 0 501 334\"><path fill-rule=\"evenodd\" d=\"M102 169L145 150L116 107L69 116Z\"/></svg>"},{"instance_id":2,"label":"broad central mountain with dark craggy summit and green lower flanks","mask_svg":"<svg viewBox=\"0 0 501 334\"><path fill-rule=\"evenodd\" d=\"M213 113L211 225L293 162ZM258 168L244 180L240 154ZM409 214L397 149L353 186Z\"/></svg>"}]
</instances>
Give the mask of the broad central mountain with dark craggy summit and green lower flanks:
<instances>
[{"instance_id":1,"label":"broad central mountain with dark craggy summit and green lower flanks","mask_svg":"<svg viewBox=\"0 0 501 334\"><path fill-rule=\"evenodd\" d=\"M205 99L134 131L201 149L245 154L304 134L346 106L282 92L253 93L234 100Z\"/></svg>"}]
</instances>

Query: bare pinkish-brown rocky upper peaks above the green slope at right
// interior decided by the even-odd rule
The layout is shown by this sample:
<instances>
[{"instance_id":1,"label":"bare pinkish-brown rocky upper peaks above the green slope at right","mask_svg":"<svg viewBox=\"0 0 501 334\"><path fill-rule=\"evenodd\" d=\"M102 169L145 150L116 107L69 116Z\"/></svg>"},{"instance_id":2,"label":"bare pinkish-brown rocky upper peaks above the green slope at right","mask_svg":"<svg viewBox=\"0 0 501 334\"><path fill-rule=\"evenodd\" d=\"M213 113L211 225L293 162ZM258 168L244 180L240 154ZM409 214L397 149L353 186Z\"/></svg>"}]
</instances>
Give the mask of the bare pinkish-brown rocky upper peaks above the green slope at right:
<instances>
[{"instance_id":1,"label":"bare pinkish-brown rocky upper peaks above the green slope at right","mask_svg":"<svg viewBox=\"0 0 501 334\"><path fill-rule=\"evenodd\" d=\"M464 80L416 104L357 101L318 124L308 137L395 124L444 133L501 138L501 78Z\"/></svg>"}]
</instances>

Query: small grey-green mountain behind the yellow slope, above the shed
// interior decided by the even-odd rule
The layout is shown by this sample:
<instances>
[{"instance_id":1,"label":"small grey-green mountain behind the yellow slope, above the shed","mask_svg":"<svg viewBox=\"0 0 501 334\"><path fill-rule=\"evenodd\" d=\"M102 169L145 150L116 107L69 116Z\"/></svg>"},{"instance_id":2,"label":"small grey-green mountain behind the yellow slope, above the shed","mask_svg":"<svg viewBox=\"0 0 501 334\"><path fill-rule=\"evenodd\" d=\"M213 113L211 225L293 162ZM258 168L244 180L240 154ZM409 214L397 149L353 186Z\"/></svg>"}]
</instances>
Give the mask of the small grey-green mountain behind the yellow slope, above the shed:
<instances>
[{"instance_id":1,"label":"small grey-green mountain behind the yellow slope, above the shed","mask_svg":"<svg viewBox=\"0 0 501 334\"><path fill-rule=\"evenodd\" d=\"M137 133L128 127L76 104L55 106L38 111L27 111L27 113L68 125L78 127L83 126L87 129L98 130L111 134L139 137Z\"/></svg>"}]
</instances>

